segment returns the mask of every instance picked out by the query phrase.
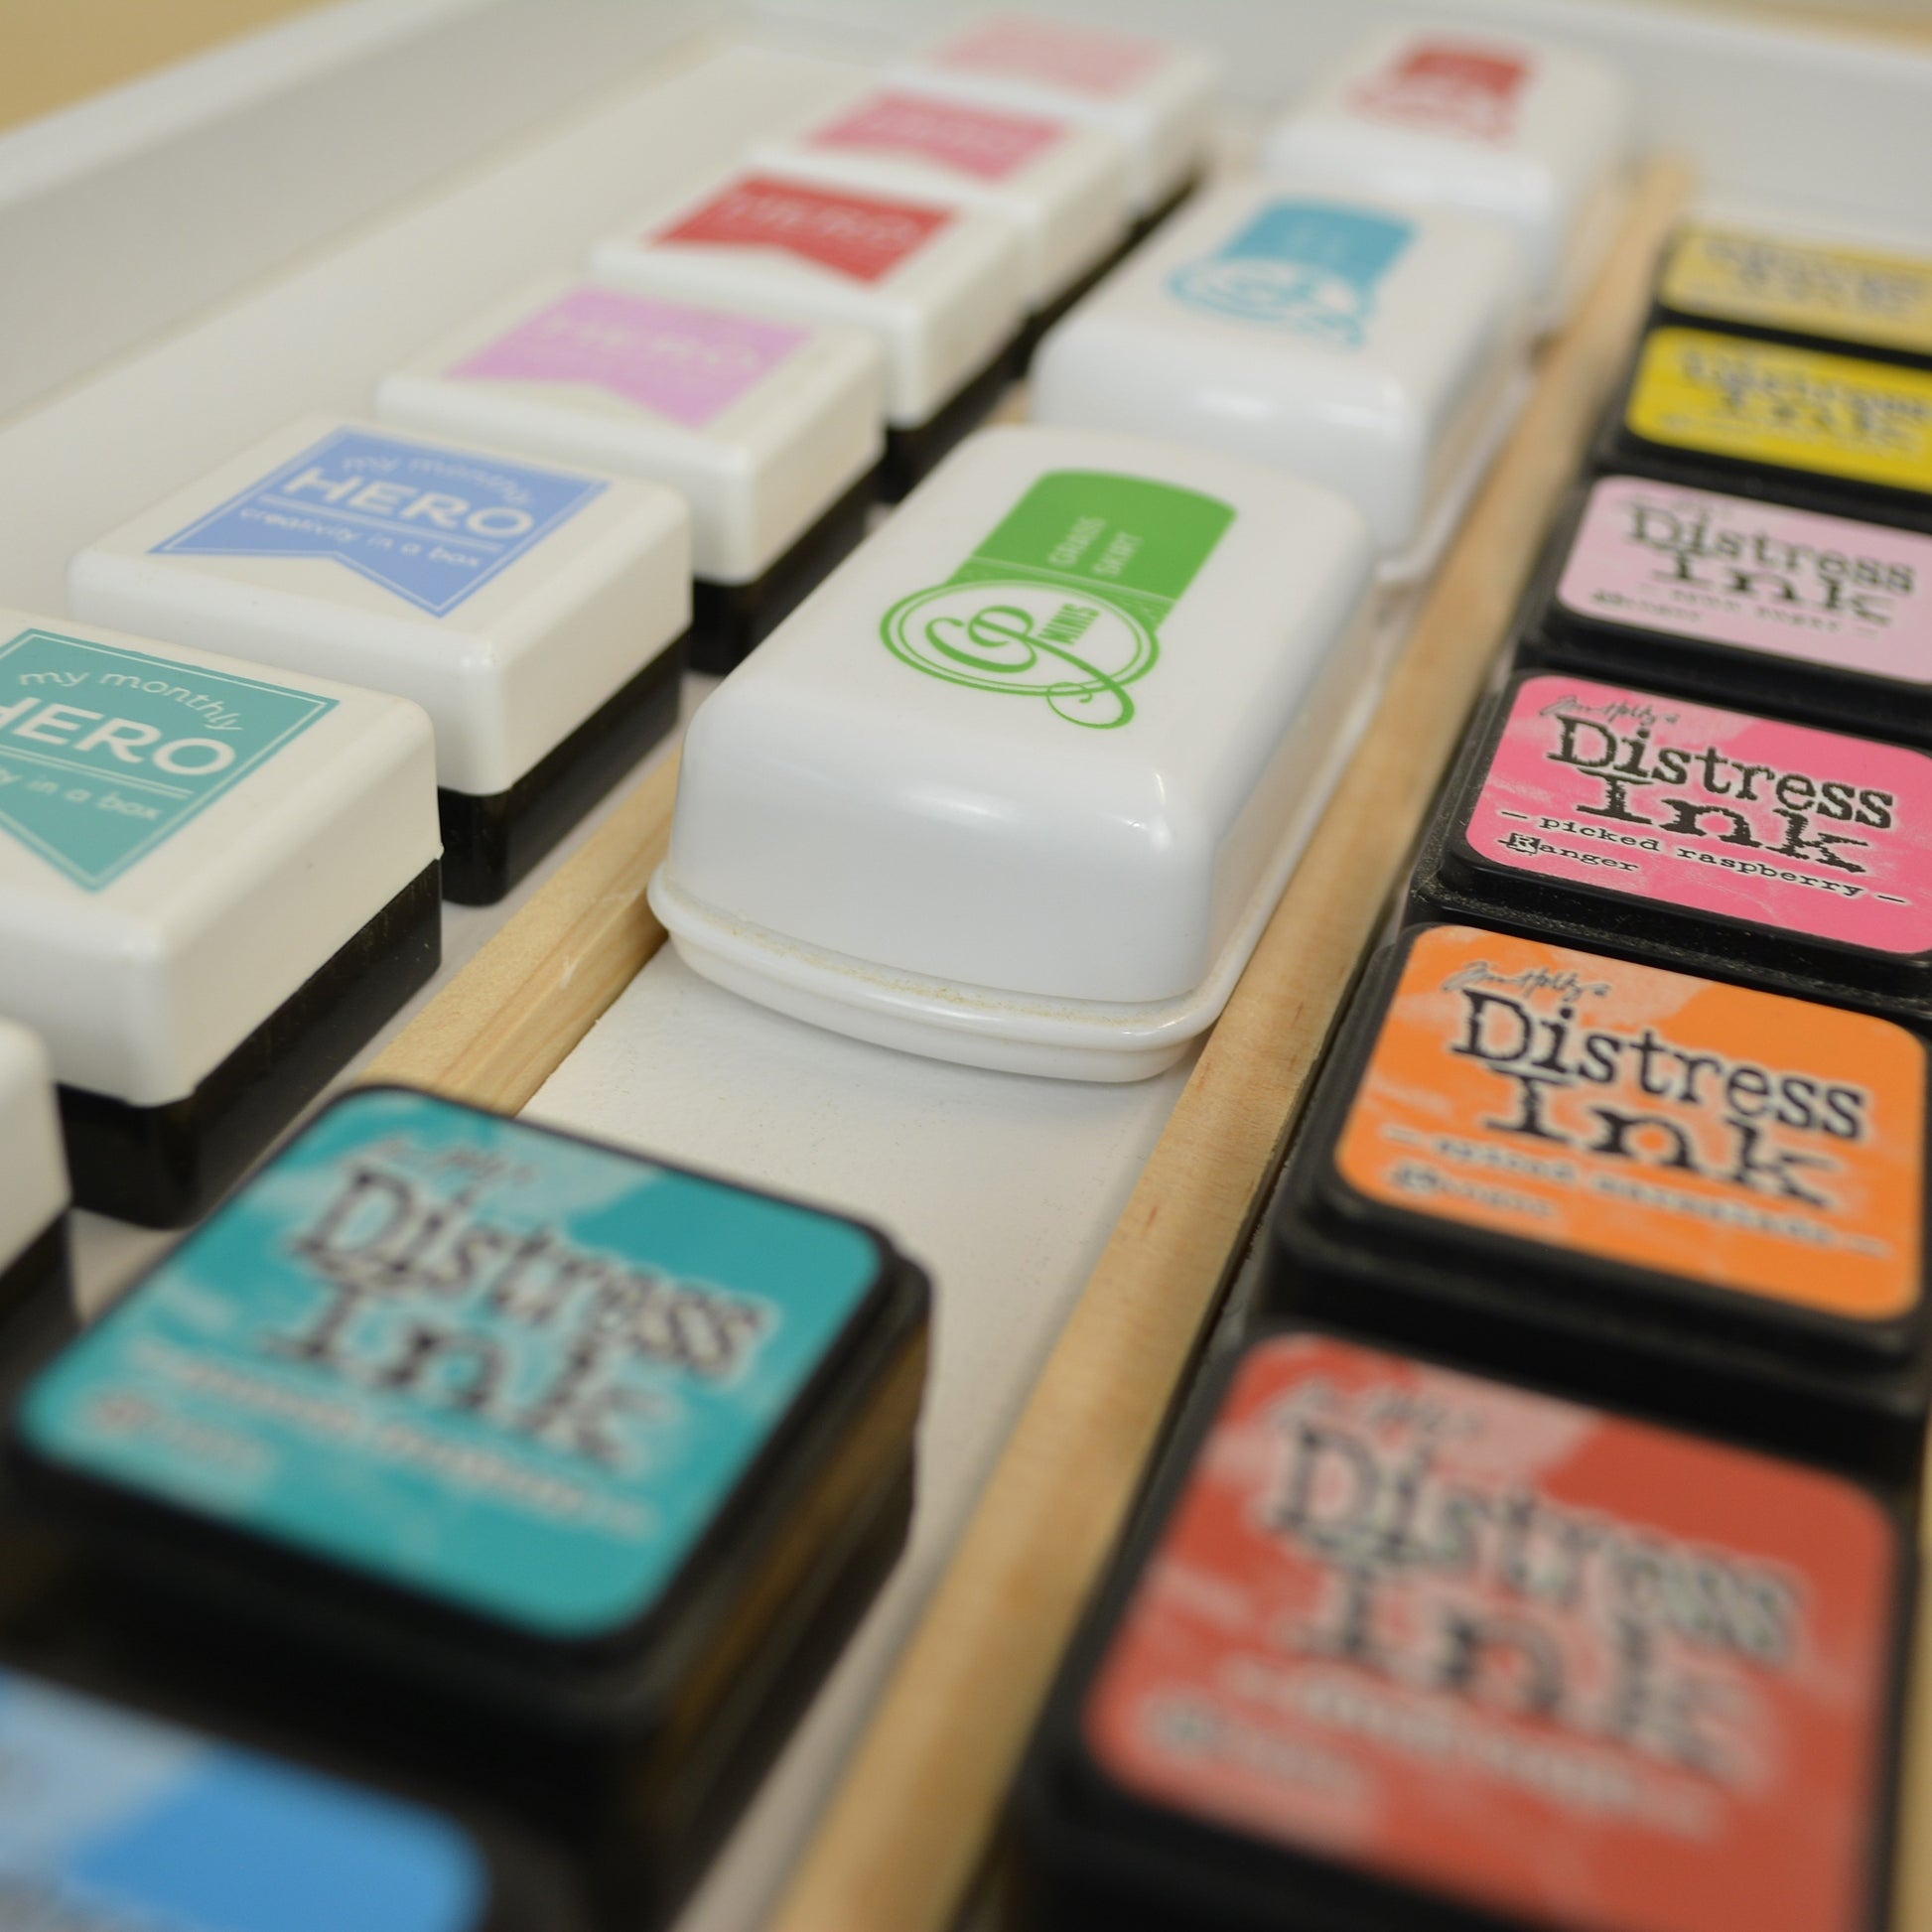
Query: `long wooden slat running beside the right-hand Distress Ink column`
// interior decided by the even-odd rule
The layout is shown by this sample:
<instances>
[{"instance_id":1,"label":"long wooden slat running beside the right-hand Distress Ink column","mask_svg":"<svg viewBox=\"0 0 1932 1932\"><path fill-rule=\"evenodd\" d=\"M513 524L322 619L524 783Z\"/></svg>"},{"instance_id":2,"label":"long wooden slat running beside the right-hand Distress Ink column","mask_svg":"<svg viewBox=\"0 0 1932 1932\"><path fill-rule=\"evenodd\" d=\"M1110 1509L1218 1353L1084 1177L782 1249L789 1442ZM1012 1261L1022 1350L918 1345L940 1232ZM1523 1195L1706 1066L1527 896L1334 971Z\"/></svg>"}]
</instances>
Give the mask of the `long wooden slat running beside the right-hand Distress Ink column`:
<instances>
[{"instance_id":1,"label":"long wooden slat running beside the right-hand Distress Ink column","mask_svg":"<svg viewBox=\"0 0 1932 1932\"><path fill-rule=\"evenodd\" d=\"M943 1932L1252 1223L1689 189L1623 238L1428 597L1376 723L1155 1148L887 1687L775 1932Z\"/></svg>"}]
</instances>

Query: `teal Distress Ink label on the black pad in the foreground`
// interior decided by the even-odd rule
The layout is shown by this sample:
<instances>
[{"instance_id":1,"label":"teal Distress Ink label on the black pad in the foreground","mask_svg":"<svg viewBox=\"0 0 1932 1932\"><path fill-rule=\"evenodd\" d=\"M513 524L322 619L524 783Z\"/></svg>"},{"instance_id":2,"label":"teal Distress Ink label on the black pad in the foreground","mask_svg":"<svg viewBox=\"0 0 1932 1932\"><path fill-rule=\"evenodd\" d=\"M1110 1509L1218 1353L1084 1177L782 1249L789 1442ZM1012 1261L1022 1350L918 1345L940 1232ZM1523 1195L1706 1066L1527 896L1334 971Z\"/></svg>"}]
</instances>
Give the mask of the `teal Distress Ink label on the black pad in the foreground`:
<instances>
[{"instance_id":1,"label":"teal Distress Ink label on the black pad in the foreground","mask_svg":"<svg viewBox=\"0 0 1932 1932\"><path fill-rule=\"evenodd\" d=\"M663 1594L864 1229L471 1113L325 1113L29 1389L48 1461L556 1638Z\"/></svg>"}]
</instances>

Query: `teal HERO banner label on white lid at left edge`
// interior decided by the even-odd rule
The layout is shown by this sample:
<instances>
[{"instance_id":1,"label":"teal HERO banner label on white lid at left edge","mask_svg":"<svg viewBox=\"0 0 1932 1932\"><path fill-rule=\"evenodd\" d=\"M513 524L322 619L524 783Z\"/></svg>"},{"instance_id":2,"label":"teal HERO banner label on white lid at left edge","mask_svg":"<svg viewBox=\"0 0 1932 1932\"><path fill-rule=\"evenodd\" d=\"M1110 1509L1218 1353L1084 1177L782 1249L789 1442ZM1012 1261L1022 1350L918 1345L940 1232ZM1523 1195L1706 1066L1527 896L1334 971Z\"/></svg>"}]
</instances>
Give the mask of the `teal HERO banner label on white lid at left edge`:
<instances>
[{"instance_id":1,"label":"teal HERO banner label on white lid at left edge","mask_svg":"<svg viewBox=\"0 0 1932 1932\"><path fill-rule=\"evenodd\" d=\"M23 630L0 645L0 827L99 893L334 707Z\"/></svg>"}]
</instances>

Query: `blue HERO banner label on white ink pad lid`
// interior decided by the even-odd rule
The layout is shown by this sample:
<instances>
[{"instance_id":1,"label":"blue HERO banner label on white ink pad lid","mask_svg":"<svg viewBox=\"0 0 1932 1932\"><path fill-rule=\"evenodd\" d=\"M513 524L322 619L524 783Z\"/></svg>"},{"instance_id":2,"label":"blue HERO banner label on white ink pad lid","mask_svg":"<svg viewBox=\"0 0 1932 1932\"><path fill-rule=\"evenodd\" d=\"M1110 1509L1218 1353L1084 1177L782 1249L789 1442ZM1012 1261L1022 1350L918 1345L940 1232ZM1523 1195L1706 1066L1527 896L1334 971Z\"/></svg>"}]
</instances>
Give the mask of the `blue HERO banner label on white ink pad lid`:
<instances>
[{"instance_id":1,"label":"blue HERO banner label on white ink pad lid","mask_svg":"<svg viewBox=\"0 0 1932 1932\"><path fill-rule=\"evenodd\" d=\"M332 556L446 616L601 491L477 450L338 429L155 554Z\"/></svg>"}]
</instances>

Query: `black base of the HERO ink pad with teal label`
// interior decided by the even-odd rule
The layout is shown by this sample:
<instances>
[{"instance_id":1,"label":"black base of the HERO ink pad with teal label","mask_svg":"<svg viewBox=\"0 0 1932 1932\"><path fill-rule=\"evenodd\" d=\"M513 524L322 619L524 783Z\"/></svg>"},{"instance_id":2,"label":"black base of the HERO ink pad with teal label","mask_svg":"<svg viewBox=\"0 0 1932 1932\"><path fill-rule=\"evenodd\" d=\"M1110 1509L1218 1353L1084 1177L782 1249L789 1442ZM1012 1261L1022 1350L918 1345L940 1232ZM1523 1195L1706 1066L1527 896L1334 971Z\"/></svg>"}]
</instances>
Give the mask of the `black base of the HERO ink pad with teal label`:
<instances>
[{"instance_id":1,"label":"black base of the HERO ink pad with teal label","mask_svg":"<svg viewBox=\"0 0 1932 1932\"><path fill-rule=\"evenodd\" d=\"M135 1107L62 1086L75 1206L143 1227L207 1213L440 960L442 891L425 866L185 1099Z\"/></svg>"}]
</instances>

